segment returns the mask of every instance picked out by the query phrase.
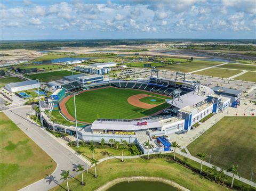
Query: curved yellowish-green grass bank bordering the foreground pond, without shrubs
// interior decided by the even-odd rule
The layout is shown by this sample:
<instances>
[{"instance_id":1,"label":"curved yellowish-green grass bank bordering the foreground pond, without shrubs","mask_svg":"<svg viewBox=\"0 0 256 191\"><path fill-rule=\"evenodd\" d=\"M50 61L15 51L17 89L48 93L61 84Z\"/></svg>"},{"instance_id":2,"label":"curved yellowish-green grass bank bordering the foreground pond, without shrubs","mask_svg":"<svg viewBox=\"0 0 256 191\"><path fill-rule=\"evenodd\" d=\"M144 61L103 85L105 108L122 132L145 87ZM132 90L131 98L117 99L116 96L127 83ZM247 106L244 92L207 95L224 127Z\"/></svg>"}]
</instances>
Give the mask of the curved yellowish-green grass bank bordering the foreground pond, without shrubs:
<instances>
[{"instance_id":1,"label":"curved yellowish-green grass bank bordering the foreground pond, without shrubs","mask_svg":"<svg viewBox=\"0 0 256 191\"><path fill-rule=\"evenodd\" d=\"M199 163L197 163L199 168ZM94 178L94 168L89 170L89 174L84 173L85 186L80 185L81 176L76 179L69 180L69 188L72 190L92 191L107 182L121 177L158 177L177 182L177 184L188 188L189 190L206 191L206 190L229 190L226 186L221 186L203 176L198 175L192 170L167 159L126 159L124 162L120 160L108 160L97 165L98 178ZM63 182L66 188L66 182ZM51 191L63 190L57 186Z\"/></svg>"}]
</instances>

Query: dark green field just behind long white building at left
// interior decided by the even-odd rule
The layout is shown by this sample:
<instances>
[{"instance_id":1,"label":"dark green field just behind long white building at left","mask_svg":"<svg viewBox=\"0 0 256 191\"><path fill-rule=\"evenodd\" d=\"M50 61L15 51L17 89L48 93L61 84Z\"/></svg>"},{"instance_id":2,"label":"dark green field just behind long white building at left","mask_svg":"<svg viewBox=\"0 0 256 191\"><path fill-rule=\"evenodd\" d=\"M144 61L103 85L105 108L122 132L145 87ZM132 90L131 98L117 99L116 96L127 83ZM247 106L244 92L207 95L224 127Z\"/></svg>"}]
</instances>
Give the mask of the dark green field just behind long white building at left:
<instances>
[{"instance_id":1,"label":"dark green field just behind long white building at left","mask_svg":"<svg viewBox=\"0 0 256 191\"><path fill-rule=\"evenodd\" d=\"M78 73L73 72L73 74L78 74ZM26 76L30 79L39 79L40 81L43 81L43 82L49 82L49 81L62 79L62 77L69 76L69 75L72 75L71 71L61 70L61 71L54 71L54 72L28 74Z\"/></svg>"}]
</instances>

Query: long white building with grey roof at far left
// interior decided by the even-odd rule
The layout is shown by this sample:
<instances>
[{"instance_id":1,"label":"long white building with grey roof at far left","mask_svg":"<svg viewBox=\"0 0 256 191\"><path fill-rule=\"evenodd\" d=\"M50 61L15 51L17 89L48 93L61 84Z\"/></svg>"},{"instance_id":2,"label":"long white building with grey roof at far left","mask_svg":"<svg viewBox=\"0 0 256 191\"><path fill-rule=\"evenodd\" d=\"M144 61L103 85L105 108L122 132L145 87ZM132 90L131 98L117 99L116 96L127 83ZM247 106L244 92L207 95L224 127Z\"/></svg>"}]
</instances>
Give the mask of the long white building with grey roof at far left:
<instances>
[{"instance_id":1,"label":"long white building with grey roof at far left","mask_svg":"<svg viewBox=\"0 0 256 191\"><path fill-rule=\"evenodd\" d=\"M35 88L37 88L37 81L36 80L28 80L28 81L9 83L9 84L6 84L4 88L7 89L11 93L20 92L20 91L28 90L28 89L35 89Z\"/></svg>"}]
</instances>

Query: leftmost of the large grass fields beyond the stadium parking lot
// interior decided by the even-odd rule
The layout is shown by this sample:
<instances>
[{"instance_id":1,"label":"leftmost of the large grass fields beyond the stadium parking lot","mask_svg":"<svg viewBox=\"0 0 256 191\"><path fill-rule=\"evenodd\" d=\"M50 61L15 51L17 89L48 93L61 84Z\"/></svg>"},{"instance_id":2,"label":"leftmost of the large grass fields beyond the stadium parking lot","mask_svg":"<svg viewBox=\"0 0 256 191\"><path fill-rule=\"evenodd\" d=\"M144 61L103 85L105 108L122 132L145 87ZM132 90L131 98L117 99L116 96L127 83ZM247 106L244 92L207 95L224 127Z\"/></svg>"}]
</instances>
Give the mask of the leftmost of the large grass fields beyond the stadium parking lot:
<instances>
[{"instance_id":1,"label":"leftmost of the large grass fields beyond the stadium parking lot","mask_svg":"<svg viewBox=\"0 0 256 191\"><path fill-rule=\"evenodd\" d=\"M221 63L222 62L194 60L192 62L167 65L162 69L177 71L177 72L191 72L191 71L200 70L203 68L212 67L214 65L218 65Z\"/></svg>"}]
</instances>

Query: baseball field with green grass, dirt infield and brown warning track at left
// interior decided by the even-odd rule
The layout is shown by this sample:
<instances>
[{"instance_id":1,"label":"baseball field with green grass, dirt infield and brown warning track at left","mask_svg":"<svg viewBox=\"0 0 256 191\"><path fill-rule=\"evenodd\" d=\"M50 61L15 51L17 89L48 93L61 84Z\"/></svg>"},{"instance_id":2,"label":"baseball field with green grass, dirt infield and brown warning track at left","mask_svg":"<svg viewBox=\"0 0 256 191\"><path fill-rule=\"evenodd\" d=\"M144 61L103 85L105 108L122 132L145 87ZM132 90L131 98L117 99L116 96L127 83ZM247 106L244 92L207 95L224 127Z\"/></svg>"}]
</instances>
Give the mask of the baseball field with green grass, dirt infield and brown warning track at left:
<instances>
[{"instance_id":1,"label":"baseball field with green grass, dirt infield and brown warning track at left","mask_svg":"<svg viewBox=\"0 0 256 191\"><path fill-rule=\"evenodd\" d=\"M156 102L151 104L148 103L148 100L140 101L142 97L152 97ZM159 102L159 99L162 102ZM170 106L165 99L170 99L170 96L137 89L107 87L87 90L76 95L77 120L92 123L97 118L136 119L147 117ZM73 96L64 98L60 107L70 120L74 120Z\"/></svg>"}]
</instances>

